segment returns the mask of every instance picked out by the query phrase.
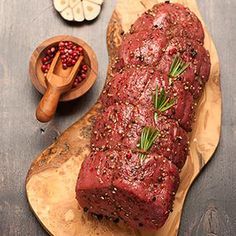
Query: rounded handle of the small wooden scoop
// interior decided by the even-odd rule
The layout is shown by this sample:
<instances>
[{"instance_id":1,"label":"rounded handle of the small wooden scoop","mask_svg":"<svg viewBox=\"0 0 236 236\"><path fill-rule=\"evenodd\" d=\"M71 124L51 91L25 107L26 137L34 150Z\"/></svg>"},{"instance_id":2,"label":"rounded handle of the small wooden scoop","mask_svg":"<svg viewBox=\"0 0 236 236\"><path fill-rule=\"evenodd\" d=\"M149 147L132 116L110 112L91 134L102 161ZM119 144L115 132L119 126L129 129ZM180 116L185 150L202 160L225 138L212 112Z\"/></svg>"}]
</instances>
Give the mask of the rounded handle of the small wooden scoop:
<instances>
[{"instance_id":1,"label":"rounded handle of the small wooden scoop","mask_svg":"<svg viewBox=\"0 0 236 236\"><path fill-rule=\"evenodd\" d=\"M36 110L36 117L40 122L46 123L53 118L60 96L61 91L49 84Z\"/></svg>"}]
</instances>

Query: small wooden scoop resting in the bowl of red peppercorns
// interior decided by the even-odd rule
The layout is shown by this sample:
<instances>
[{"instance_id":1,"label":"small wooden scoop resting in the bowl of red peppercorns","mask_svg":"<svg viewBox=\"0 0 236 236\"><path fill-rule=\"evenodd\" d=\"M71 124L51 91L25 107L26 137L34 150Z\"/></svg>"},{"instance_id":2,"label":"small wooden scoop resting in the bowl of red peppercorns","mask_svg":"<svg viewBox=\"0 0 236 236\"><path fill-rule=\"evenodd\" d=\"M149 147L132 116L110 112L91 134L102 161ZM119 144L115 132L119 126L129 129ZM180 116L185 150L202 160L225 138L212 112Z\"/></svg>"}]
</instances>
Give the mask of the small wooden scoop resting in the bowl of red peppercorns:
<instances>
[{"instance_id":1,"label":"small wooden scoop resting in the bowl of red peppercorns","mask_svg":"<svg viewBox=\"0 0 236 236\"><path fill-rule=\"evenodd\" d=\"M52 119L61 95L71 89L82 61L83 56L80 56L73 67L64 70L60 52L57 52L46 76L47 90L36 110L39 121L48 122Z\"/></svg>"}]
</instances>

